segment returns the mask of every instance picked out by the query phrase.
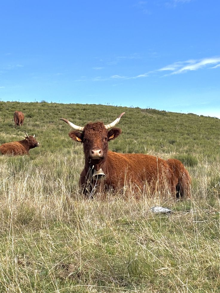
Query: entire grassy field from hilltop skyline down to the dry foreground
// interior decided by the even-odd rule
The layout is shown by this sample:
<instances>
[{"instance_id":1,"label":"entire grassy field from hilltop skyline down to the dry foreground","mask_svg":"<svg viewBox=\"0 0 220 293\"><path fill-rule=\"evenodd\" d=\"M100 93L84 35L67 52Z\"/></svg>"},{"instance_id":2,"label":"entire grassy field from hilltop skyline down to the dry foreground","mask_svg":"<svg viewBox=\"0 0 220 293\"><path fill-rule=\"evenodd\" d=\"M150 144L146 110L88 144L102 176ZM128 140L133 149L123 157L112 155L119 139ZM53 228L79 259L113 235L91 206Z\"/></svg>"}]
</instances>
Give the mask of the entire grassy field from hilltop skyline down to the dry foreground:
<instances>
[{"instance_id":1,"label":"entire grassy field from hilltop skyline down to the dry foreground","mask_svg":"<svg viewBox=\"0 0 220 293\"><path fill-rule=\"evenodd\" d=\"M14 128L13 112L25 114ZM180 159L192 198L132 190L81 194L82 145L59 118L113 121L113 151ZM0 144L35 134L29 156L0 156L0 292L219 292L220 120L104 105L0 102ZM155 215L160 205L172 214Z\"/></svg>"}]
</instances>

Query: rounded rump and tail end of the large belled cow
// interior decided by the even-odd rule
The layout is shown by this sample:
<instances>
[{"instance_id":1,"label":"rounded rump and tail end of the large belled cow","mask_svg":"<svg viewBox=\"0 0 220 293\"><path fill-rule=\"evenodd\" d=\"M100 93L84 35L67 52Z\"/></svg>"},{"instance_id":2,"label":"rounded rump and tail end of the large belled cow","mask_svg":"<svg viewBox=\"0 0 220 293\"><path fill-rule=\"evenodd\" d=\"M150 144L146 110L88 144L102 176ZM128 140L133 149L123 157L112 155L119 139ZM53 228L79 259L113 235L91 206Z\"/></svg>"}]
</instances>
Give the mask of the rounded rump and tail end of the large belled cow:
<instances>
[{"instance_id":1,"label":"rounded rump and tail end of the large belled cow","mask_svg":"<svg viewBox=\"0 0 220 293\"><path fill-rule=\"evenodd\" d=\"M187 169L177 159L168 159L167 162L172 169L174 176L178 179L176 185L176 197L178 199L191 198L191 178Z\"/></svg>"}]
</instances>

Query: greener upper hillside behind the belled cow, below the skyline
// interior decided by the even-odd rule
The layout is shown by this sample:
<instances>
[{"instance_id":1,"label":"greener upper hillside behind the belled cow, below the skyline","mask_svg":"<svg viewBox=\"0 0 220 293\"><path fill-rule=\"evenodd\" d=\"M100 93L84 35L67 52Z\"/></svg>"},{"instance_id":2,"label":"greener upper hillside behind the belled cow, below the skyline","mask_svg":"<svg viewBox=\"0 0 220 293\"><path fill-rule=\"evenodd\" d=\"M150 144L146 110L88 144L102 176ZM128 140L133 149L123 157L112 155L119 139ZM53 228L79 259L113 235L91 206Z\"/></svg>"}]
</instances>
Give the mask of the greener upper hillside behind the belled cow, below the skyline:
<instances>
[{"instance_id":1,"label":"greener upper hillside behind the belled cow, below the skyline","mask_svg":"<svg viewBox=\"0 0 220 293\"><path fill-rule=\"evenodd\" d=\"M72 147L67 136L70 128L59 121L61 117L84 126L96 120L107 123L126 112L119 125L123 134L111 143L111 149L120 152L160 152L163 143L163 151L167 154L199 153L210 159L219 155L220 119L104 105L0 102L1 143L20 138L21 129L15 131L12 127L15 109L25 113L22 130L36 133L43 151L60 150L61 145L63 148Z\"/></svg>"}]
</instances>

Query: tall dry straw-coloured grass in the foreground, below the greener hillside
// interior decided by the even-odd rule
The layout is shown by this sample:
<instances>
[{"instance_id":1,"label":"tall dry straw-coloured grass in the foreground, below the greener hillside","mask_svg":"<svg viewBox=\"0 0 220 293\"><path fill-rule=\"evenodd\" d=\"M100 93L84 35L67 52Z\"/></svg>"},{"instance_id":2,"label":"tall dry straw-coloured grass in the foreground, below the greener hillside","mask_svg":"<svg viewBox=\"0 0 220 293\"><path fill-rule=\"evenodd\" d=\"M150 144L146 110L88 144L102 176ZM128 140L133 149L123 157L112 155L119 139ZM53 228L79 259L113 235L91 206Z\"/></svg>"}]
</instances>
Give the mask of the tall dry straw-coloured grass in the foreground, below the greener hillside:
<instances>
[{"instance_id":1,"label":"tall dry straw-coloured grass in the foreground, below the greener hillside","mask_svg":"<svg viewBox=\"0 0 220 293\"><path fill-rule=\"evenodd\" d=\"M220 160L189 167L192 200L177 202L129 188L84 199L75 151L0 159L1 292L219 291Z\"/></svg>"}]
</instances>

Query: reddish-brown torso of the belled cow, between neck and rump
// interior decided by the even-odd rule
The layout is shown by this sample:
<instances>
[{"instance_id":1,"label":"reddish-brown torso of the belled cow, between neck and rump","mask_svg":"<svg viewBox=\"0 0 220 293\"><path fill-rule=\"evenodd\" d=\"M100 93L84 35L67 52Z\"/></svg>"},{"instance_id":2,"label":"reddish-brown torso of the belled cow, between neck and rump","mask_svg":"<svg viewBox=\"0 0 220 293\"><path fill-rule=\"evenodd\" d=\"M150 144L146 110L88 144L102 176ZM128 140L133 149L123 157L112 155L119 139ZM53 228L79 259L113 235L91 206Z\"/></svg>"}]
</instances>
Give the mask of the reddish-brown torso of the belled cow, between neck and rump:
<instances>
[{"instance_id":1,"label":"reddish-brown torso of the belled cow, between neck and rump","mask_svg":"<svg viewBox=\"0 0 220 293\"><path fill-rule=\"evenodd\" d=\"M146 182L152 187L161 185L162 182L172 187L177 183L167 161L146 154L121 154L109 151L105 172L109 174L106 183L114 187L123 186L128 182L140 188Z\"/></svg>"}]
</instances>

